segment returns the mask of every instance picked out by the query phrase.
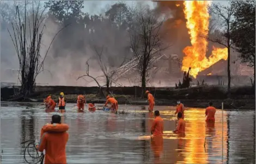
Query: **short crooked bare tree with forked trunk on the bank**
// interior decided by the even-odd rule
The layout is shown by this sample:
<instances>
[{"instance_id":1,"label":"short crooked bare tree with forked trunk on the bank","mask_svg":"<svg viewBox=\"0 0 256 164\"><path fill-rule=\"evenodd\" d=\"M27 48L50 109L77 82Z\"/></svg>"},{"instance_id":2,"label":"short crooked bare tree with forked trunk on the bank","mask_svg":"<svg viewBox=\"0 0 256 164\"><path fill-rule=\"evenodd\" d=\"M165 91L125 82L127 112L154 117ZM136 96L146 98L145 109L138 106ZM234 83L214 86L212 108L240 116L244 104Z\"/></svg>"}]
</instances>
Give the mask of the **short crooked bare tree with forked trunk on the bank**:
<instances>
[{"instance_id":1,"label":"short crooked bare tree with forked trunk on the bank","mask_svg":"<svg viewBox=\"0 0 256 164\"><path fill-rule=\"evenodd\" d=\"M88 61L86 62L87 64L87 71L86 71L86 74L80 76L77 78L80 79L80 78L83 78L83 77L89 77L89 78L92 78L96 83L97 85L100 87L100 94L102 96L102 90L101 88L103 86L106 86L106 91L107 91L107 94L109 93L109 87L112 86L112 83L117 83L117 81L115 81L114 79L114 76L117 74L117 70L113 69L112 67L108 66L106 61L103 60L103 55L102 55L102 52L103 52L103 46L101 47L100 51L97 50L97 48L94 46L94 49L95 49L95 53L96 53L96 56L97 56L97 62L101 68L101 71L102 71L102 74L103 75L100 75L98 77L93 77L92 75L89 74L89 64L88 64ZM114 62L114 61L113 61ZM123 65L125 62L125 59L123 62L121 62L120 66ZM104 85L101 86L100 83L99 83L99 78L103 78L103 83Z\"/></svg>"}]
</instances>

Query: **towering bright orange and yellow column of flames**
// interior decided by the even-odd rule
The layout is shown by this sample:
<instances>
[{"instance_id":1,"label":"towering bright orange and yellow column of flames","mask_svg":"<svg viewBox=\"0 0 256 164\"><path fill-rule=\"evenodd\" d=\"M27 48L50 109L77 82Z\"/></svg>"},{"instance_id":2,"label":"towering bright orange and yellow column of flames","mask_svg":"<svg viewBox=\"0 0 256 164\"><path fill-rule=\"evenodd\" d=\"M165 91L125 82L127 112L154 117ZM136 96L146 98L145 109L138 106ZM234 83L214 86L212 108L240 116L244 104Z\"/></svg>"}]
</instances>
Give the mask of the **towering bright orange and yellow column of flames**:
<instances>
[{"instance_id":1,"label":"towering bright orange and yellow column of flames","mask_svg":"<svg viewBox=\"0 0 256 164\"><path fill-rule=\"evenodd\" d=\"M187 20L186 27L192 46L184 48L185 56L182 60L182 71L191 67L191 75L196 78L198 72L205 70L221 59L227 60L227 48L213 47L212 54L206 58L208 41L205 39L209 33L209 1L184 1L184 14Z\"/></svg>"}]
</instances>

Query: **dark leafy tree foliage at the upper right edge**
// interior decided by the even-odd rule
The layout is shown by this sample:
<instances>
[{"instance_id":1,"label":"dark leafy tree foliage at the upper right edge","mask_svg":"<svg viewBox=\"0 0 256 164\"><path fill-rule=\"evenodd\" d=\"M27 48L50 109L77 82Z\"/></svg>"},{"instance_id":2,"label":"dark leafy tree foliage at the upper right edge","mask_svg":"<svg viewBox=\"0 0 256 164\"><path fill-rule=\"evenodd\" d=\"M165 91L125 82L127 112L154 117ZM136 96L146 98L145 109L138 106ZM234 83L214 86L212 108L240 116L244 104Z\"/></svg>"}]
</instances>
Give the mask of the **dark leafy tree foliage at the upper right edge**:
<instances>
[{"instance_id":1,"label":"dark leafy tree foliage at the upper right edge","mask_svg":"<svg viewBox=\"0 0 256 164\"><path fill-rule=\"evenodd\" d=\"M254 67L255 90L255 1L233 1L235 21L231 24L231 40L242 63Z\"/></svg>"}]
</instances>

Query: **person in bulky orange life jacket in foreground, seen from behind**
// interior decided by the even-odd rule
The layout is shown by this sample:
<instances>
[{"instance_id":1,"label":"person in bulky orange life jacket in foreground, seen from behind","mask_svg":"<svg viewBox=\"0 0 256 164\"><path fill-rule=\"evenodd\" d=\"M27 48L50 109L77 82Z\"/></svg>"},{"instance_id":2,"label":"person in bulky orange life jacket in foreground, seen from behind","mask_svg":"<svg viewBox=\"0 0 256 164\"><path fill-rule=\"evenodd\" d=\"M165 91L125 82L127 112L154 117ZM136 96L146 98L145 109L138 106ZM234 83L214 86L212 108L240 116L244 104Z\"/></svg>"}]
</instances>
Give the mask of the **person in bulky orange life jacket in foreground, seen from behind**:
<instances>
[{"instance_id":1,"label":"person in bulky orange life jacket in foreground, seen from behind","mask_svg":"<svg viewBox=\"0 0 256 164\"><path fill-rule=\"evenodd\" d=\"M53 115L51 124L46 124L41 129L40 142L35 144L40 152L45 150L47 164L66 163L66 143L69 130L67 124L61 123L59 115Z\"/></svg>"}]
</instances>

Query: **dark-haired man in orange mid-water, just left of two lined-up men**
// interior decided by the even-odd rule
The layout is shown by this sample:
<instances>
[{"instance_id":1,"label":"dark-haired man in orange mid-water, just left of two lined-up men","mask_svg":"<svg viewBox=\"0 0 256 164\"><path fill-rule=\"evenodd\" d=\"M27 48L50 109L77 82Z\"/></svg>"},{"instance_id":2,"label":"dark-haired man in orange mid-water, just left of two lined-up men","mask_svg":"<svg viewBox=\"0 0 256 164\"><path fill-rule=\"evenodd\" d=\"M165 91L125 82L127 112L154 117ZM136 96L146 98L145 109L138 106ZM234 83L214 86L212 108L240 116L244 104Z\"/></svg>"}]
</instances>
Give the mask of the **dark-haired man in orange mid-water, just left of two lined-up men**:
<instances>
[{"instance_id":1,"label":"dark-haired man in orange mid-water, just left of two lined-up men","mask_svg":"<svg viewBox=\"0 0 256 164\"><path fill-rule=\"evenodd\" d=\"M155 119L151 126L151 135L153 135L153 137L163 136L163 119L160 117L158 110L155 111Z\"/></svg>"}]
</instances>

